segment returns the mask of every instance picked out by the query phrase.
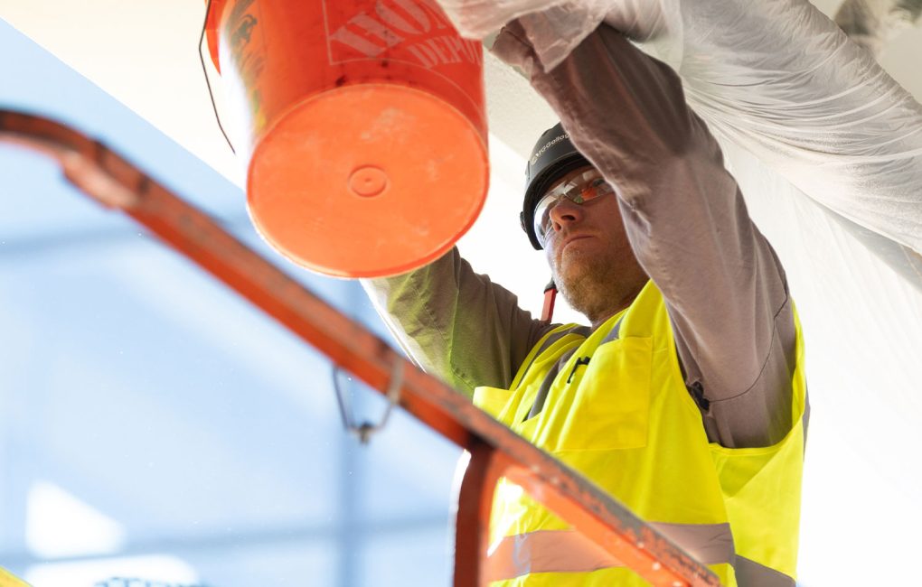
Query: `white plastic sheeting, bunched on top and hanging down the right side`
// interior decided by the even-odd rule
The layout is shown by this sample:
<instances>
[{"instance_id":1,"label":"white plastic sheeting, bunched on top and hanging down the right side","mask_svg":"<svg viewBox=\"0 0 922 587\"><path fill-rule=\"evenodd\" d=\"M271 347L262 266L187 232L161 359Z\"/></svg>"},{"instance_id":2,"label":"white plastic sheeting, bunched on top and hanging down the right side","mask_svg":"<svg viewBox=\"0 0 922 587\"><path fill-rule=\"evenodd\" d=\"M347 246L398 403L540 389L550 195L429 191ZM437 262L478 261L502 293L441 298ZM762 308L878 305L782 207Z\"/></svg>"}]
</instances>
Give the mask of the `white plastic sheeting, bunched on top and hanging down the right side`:
<instances>
[{"instance_id":1,"label":"white plastic sheeting, bunched on top and hanging down the right side","mask_svg":"<svg viewBox=\"0 0 922 587\"><path fill-rule=\"evenodd\" d=\"M804 323L814 417L802 553L822 559L820 581L904 580L873 561L915 557L915 540L855 536L922 524L922 106L807 2L440 2L474 38L528 19L546 68L604 20L680 73ZM832 463L836 475L810 476ZM863 507L868 519L831 531Z\"/></svg>"}]
</instances>

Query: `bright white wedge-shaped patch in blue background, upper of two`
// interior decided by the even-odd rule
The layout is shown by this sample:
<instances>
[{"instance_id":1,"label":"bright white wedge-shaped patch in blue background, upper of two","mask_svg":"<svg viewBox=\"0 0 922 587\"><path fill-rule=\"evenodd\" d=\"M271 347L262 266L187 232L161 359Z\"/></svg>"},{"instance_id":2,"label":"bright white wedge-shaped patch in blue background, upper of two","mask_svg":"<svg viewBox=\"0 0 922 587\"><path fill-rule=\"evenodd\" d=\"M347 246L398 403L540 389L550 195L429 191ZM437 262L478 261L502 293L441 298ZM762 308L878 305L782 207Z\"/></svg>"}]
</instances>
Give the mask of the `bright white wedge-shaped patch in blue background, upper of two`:
<instances>
[{"instance_id":1,"label":"bright white wedge-shaped patch in blue background, upper of two","mask_svg":"<svg viewBox=\"0 0 922 587\"><path fill-rule=\"evenodd\" d=\"M26 544L41 558L109 554L124 545L124 530L61 487L39 481L29 490Z\"/></svg>"}]
</instances>

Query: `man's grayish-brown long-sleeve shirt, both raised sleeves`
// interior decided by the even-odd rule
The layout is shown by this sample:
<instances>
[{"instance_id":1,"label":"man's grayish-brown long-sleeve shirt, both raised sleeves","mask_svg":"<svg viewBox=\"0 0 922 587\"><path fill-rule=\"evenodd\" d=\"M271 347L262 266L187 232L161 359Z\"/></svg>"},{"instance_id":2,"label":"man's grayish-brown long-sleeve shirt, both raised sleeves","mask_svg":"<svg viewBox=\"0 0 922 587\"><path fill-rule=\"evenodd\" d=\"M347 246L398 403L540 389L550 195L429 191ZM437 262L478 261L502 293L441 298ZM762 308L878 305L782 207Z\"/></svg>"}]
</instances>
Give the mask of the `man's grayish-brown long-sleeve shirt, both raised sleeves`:
<instances>
[{"instance_id":1,"label":"man's grayish-brown long-sleeve shirt, both raised sleeves","mask_svg":"<svg viewBox=\"0 0 922 587\"><path fill-rule=\"evenodd\" d=\"M706 400L708 438L731 448L781 440L796 351L784 270L679 76L605 25L546 72L526 26L508 25L493 52L529 76L615 186L633 251L666 300L686 385ZM405 350L463 393L508 387L551 327L456 250L364 285Z\"/></svg>"}]
</instances>

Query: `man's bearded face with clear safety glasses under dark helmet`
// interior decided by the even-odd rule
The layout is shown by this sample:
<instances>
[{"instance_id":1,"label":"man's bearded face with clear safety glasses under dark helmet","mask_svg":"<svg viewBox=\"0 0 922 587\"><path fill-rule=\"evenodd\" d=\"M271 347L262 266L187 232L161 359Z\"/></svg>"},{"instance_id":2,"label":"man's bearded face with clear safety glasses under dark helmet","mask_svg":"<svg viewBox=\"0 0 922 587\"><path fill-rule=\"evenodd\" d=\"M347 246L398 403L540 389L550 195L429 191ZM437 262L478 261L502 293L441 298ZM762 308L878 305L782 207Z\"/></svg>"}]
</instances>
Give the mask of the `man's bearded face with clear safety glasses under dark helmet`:
<instances>
[{"instance_id":1,"label":"man's bearded face with clear safety glasses under dark helmet","mask_svg":"<svg viewBox=\"0 0 922 587\"><path fill-rule=\"evenodd\" d=\"M548 191L591 169L573 170L552 183ZM611 309L629 294L636 294L637 283L645 283L615 194L582 205L562 199L550 208L549 217L544 249L554 282L570 305L593 323L607 318L603 314L613 313Z\"/></svg>"}]
</instances>

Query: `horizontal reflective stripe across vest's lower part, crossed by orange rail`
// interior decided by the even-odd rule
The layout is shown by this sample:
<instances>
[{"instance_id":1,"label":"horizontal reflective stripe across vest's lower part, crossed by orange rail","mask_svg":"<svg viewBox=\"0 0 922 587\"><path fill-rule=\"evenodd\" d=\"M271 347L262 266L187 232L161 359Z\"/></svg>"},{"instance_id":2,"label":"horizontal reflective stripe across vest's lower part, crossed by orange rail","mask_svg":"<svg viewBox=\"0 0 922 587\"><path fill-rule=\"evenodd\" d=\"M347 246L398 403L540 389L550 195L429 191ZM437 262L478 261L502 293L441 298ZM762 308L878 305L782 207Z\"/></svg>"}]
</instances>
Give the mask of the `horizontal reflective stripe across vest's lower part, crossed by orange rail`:
<instances>
[{"instance_id":1,"label":"horizontal reflective stripe across vest's lower part, crossed by orange rail","mask_svg":"<svg viewBox=\"0 0 922 587\"><path fill-rule=\"evenodd\" d=\"M733 535L728 523L651 525L706 565L733 562ZM487 565L490 581L529 573L591 572L624 566L621 560L573 530L538 530L506 536L491 546Z\"/></svg>"}]
</instances>

